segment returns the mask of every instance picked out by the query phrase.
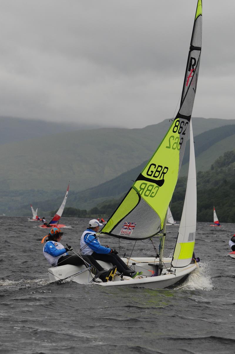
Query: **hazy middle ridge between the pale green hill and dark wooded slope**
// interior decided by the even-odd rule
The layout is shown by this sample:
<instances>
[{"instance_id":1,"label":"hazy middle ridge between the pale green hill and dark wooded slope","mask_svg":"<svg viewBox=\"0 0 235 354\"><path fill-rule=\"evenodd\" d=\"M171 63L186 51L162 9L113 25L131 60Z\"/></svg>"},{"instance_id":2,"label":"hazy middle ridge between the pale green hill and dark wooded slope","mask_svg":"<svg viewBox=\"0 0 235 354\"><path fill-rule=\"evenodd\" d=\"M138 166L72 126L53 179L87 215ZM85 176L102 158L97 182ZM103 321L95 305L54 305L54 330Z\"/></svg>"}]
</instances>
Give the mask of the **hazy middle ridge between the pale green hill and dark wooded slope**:
<instances>
[{"instance_id":1,"label":"hazy middle ridge between the pale green hill and dark wooded slope","mask_svg":"<svg viewBox=\"0 0 235 354\"><path fill-rule=\"evenodd\" d=\"M221 140L217 141L219 137ZM215 128L195 136L194 146L197 172L210 170L213 161L216 160L218 156L221 156L227 151L226 149L228 149L228 147L234 147L234 141L233 126L223 126L219 129ZM201 142L203 142L204 151ZM188 151L189 141L186 145L180 176L186 176L188 173ZM67 200L67 207L90 210L93 206L104 201L120 198L131 187L133 180L135 180L143 170L147 161L148 160L134 167L134 169L124 172L98 186L80 192L75 192L74 189L71 188ZM1 205L5 207L5 209L1 209L1 212L6 213L8 210L8 213L11 215L30 215L29 204L33 203L33 205L39 208L40 213L48 215L51 210L55 210L55 207L59 207L63 200L64 193L65 189L63 192L58 190L52 190L50 192L43 190L2 192Z\"/></svg>"}]
</instances>

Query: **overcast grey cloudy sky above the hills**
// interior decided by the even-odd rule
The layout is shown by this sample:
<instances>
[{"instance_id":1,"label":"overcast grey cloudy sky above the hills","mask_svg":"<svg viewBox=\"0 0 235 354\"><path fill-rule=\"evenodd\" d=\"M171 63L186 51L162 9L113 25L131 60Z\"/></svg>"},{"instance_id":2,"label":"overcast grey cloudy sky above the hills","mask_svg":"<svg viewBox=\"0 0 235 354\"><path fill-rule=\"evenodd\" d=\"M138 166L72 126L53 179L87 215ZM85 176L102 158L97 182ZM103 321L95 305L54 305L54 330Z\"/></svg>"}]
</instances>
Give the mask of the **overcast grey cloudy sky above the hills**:
<instances>
[{"instance_id":1,"label":"overcast grey cloudy sky above the hills","mask_svg":"<svg viewBox=\"0 0 235 354\"><path fill-rule=\"evenodd\" d=\"M196 0L1 0L1 115L144 127L181 95ZM203 0L193 116L234 118L234 0Z\"/></svg>"}]
</instances>

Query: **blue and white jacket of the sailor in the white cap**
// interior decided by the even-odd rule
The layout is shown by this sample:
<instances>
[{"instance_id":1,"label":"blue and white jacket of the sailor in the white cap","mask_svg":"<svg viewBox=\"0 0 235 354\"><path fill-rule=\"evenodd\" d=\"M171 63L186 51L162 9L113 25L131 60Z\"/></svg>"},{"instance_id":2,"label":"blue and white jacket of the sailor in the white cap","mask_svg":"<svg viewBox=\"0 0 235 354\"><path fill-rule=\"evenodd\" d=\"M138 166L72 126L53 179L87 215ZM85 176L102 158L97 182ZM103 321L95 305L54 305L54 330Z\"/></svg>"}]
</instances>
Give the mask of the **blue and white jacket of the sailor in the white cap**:
<instances>
[{"instance_id":1,"label":"blue and white jacket of the sailor in the white cap","mask_svg":"<svg viewBox=\"0 0 235 354\"><path fill-rule=\"evenodd\" d=\"M80 251L84 255L91 255L93 252L107 254L111 252L109 247L104 247L99 243L99 238L92 229L86 229L81 236Z\"/></svg>"}]
</instances>

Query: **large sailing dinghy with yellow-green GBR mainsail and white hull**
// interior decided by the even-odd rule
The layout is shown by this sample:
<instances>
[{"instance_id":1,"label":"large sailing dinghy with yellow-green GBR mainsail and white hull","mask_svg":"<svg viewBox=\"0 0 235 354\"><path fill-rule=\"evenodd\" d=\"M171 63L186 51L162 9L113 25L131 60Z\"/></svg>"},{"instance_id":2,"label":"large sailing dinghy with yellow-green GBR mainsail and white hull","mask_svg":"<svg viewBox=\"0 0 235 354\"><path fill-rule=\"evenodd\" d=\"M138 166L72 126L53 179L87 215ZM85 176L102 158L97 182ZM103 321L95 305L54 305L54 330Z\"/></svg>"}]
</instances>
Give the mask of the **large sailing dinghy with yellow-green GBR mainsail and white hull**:
<instances>
[{"instance_id":1,"label":"large sailing dinghy with yellow-green GBR mainsail and white hull","mask_svg":"<svg viewBox=\"0 0 235 354\"><path fill-rule=\"evenodd\" d=\"M201 31L202 3L198 0L179 111L156 152L100 233L100 236L136 241L159 237L160 254L155 248L156 257L122 258L134 271L143 272L134 279L115 275L114 281L93 281L92 273L84 265L63 265L48 269L51 281L72 276L72 280L79 284L93 281L93 284L101 286L130 285L157 289L175 284L197 268L192 259L196 234L196 168L191 113L199 73ZM173 257L165 258L167 209L176 187L189 131L190 159L184 207ZM108 263L100 264L110 268Z\"/></svg>"}]
</instances>

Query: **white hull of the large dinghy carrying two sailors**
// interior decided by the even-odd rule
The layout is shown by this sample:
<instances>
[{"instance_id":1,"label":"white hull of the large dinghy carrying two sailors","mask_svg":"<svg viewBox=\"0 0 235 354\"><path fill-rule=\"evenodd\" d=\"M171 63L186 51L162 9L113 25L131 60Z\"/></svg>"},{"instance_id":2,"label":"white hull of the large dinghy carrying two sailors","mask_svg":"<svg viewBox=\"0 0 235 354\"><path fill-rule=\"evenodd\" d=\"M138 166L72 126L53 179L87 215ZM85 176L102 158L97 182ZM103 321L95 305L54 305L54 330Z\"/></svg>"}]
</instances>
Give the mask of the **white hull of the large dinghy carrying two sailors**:
<instances>
[{"instance_id":1,"label":"white hull of the large dinghy carrying two sailors","mask_svg":"<svg viewBox=\"0 0 235 354\"><path fill-rule=\"evenodd\" d=\"M172 258L164 258L164 263L167 268L170 269L170 262ZM127 263L127 258L122 258L122 260ZM161 289L167 286L173 285L179 280L181 280L184 276L193 272L196 269L196 264L189 264L184 268L171 268L173 273L167 271L167 269L163 269L161 275L159 276L151 276L153 272L157 271L157 264L159 259L156 258L147 258L147 257L138 257L132 258L128 265L133 270L141 271L143 274L135 279L132 279L128 276L124 276L121 280L119 275L116 275L114 281L101 282L97 279L98 282L92 282L93 274L89 272L89 270L84 266L75 266L75 265L62 265L60 267L49 268L49 278L51 281L63 280L69 277L72 277L71 280L77 282L78 284L95 284L101 286L138 286L145 287L149 289ZM109 269L112 267L110 263L99 262L103 268ZM135 265L132 265L135 263ZM149 263L154 263L149 265ZM175 272L175 273L174 273Z\"/></svg>"}]
</instances>

